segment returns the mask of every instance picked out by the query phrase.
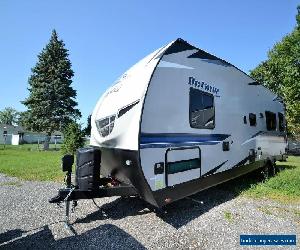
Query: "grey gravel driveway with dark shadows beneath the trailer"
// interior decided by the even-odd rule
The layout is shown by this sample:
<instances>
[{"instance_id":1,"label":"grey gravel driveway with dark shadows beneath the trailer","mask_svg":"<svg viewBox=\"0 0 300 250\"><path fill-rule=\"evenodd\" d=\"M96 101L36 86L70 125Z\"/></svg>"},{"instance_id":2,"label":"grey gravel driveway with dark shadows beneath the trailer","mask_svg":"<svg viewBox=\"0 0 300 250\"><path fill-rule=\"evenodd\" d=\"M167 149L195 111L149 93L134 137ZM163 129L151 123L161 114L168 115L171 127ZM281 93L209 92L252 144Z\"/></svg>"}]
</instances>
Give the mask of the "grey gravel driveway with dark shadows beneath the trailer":
<instances>
[{"instance_id":1,"label":"grey gravel driveway with dark shadows beneath the trailer","mask_svg":"<svg viewBox=\"0 0 300 250\"><path fill-rule=\"evenodd\" d=\"M240 234L300 235L300 204L234 197L219 187L175 202L161 216L134 197L96 199L104 212L79 201L71 232L64 209L48 203L60 187L0 174L0 249L242 249Z\"/></svg>"}]
</instances>

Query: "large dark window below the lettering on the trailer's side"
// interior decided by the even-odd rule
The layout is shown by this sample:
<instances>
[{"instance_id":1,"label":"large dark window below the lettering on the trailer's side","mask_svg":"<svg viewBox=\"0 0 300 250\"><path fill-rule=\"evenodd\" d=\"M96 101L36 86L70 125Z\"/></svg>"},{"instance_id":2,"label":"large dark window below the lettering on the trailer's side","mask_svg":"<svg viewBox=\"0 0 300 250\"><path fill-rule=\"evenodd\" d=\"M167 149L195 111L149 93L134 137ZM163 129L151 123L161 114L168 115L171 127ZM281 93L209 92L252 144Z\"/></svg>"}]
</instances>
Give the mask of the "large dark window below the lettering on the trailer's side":
<instances>
[{"instance_id":1,"label":"large dark window below the lettering on the trailer's side","mask_svg":"<svg viewBox=\"0 0 300 250\"><path fill-rule=\"evenodd\" d=\"M213 129L215 127L214 96L190 88L190 126Z\"/></svg>"}]
</instances>

